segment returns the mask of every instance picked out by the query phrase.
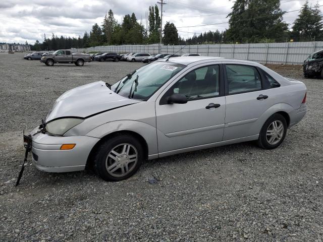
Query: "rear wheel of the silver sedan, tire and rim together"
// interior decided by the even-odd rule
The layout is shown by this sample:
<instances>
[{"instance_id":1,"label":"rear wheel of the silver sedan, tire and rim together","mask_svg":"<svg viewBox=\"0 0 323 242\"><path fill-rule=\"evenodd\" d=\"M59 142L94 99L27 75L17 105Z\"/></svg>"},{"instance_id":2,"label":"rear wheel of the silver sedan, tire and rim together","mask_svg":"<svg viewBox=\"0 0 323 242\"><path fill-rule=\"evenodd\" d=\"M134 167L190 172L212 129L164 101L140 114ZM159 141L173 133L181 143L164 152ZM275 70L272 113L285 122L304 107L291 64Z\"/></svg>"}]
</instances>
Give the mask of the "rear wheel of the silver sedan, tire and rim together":
<instances>
[{"instance_id":1,"label":"rear wheel of the silver sedan, tire and rim together","mask_svg":"<svg viewBox=\"0 0 323 242\"><path fill-rule=\"evenodd\" d=\"M262 126L258 145L263 149L275 149L284 141L286 132L287 122L285 117L275 113Z\"/></svg>"}]
</instances>

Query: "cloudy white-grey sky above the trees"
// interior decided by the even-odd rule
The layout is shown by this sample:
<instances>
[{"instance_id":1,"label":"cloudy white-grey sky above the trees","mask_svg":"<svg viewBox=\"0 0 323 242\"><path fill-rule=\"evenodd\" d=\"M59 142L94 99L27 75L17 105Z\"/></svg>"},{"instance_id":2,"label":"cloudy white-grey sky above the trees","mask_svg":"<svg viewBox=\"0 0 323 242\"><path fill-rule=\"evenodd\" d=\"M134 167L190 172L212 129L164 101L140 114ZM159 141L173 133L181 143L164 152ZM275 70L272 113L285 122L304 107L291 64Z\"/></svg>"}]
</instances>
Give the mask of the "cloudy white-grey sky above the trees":
<instances>
[{"instance_id":1,"label":"cloudy white-grey sky above the trees","mask_svg":"<svg viewBox=\"0 0 323 242\"><path fill-rule=\"evenodd\" d=\"M148 8L157 0L0 0L0 42L33 44L42 42L54 33L58 36L83 36L94 23L101 25L109 9L115 14L118 23L126 14L135 13L138 21L146 25ZM160 2L160 0L158 1ZM181 37L192 37L194 33L219 31L228 28L227 14L234 1L229 0L164 0L163 26L166 21L174 23ZM281 0L283 11L298 10L305 0ZM317 0L309 0L315 5ZM323 5L323 0L318 1ZM157 4L160 10L160 5ZM320 7L323 11L323 7ZM287 13L284 21L292 24L298 12ZM217 25L186 27L205 24ZM181 32L183 31L183 32Z\"/></svg>"}]
</instances>

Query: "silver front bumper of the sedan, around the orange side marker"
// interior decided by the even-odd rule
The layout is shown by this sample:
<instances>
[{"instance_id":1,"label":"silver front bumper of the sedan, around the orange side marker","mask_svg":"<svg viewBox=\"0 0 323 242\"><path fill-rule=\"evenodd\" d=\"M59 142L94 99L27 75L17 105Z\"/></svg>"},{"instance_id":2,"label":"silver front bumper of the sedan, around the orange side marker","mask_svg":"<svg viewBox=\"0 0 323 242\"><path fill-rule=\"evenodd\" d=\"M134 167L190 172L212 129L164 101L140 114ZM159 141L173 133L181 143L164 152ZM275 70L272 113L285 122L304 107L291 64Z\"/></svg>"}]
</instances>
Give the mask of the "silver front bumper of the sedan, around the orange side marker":
<instances>
[{"instance_id":1,"label":"silver front bumper of the sedan, around the orange side marker","mask_svg":"<svg viewBox=\"0 0 323 242\"><path fill-rule=\"evenodd\" d=\"M32 136L32 162L37 169L47 172L84 170L90 151L98 141L89 136L57 137L38 133ZM61 150L62 144L76 145L71 150Z\"/></svg>"}]
</instances>

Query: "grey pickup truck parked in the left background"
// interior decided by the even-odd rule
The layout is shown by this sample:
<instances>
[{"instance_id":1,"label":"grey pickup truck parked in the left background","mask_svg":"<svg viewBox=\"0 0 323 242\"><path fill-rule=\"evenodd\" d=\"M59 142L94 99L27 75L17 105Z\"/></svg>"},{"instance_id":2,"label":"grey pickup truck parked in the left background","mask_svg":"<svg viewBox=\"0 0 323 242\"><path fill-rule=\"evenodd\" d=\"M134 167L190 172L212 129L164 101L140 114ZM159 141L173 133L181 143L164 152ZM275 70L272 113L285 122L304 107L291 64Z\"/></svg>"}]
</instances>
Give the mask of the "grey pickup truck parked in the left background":
<instances>
[{"instance_id":1,"label":"grey pickup truck parked in the left background","mask_svg":"<svg viewBox=\"0 0 323 242\"><path fill-rule=\"evenodd\" d=\"M77 53L70 49L59 49L52 54L41 56L40 62L46 66L53 66L55 63L74 63L76 66L83 66L85 62L90 62L90 55Z\"/></svg>"}]
</instances>

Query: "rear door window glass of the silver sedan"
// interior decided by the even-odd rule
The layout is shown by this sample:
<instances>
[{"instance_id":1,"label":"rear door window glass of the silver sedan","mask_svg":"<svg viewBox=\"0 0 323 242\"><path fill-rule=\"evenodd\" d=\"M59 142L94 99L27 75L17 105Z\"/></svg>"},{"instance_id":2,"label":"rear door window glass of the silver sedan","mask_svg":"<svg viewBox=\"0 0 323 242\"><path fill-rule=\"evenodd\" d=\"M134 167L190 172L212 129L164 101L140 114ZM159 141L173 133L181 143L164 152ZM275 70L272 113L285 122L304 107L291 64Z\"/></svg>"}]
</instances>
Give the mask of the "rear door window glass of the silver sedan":
<instances>
[{"instance_id":1,"label":"rear door window glass of the silver sedan","mask_svg":"<svg viewBox=\"0 0 323 242\"><path fill-rule=\"evenodd\" d=\"M226 65L228 93L250 92L260 90L261 78L255 67L243 65Z\"/></svg>"}]
</instances>

